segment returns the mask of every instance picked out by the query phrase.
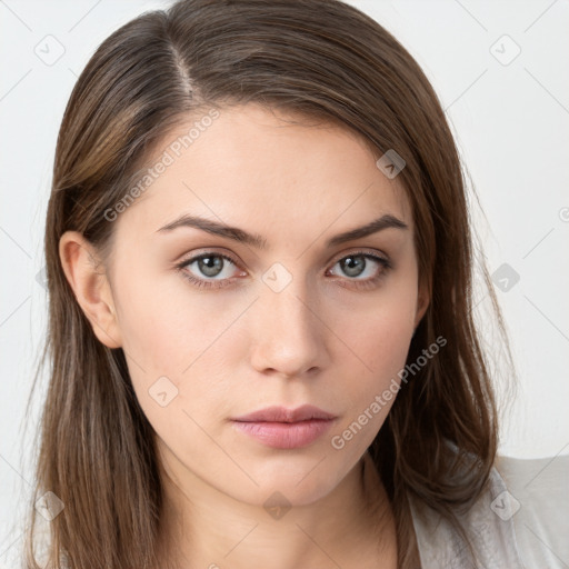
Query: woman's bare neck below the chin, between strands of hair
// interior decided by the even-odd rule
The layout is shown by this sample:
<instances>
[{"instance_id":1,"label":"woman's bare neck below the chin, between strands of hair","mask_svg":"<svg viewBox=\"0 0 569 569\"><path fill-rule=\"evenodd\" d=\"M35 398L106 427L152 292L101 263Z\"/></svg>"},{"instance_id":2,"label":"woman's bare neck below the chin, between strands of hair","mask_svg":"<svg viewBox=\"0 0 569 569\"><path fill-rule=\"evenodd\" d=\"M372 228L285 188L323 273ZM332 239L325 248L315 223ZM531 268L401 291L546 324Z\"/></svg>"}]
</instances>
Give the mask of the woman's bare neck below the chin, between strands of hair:
<instances>
[{"instance_id":1,"label":"woman's bare neck below the chin, between strands of hair","mask_svg":"<svg viewBox=\"0 0 569 569\"><path fill-rule=\"evenodd\" d=\"M326 497L272 515L192 476L180 483L166 471L164 495L166 550L180 568L397 566L391 507L368 453Z\"/></svg>"}]
</instances>

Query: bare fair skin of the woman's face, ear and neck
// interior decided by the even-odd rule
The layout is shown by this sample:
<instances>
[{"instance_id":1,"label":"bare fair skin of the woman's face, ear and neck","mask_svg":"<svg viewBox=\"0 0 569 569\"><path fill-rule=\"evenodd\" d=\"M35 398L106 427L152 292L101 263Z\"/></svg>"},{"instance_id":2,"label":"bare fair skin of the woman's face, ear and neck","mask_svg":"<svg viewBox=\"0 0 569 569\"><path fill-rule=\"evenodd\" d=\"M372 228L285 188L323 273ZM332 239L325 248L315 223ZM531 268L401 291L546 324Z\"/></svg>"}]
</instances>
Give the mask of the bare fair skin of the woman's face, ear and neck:
<instances>
[{"instance_id":1,"label":"bare fair skin of the woman's face, ear and neck","mask_svg":"<svg viewBox=\"0 0 569 569\"><path fill-rule=\"evenodd\" d=\"M427 309L412 212L397 177L383 176L380 154L357 134L282 118L257 106L222 109L113 221L107 264L96 266L97 250L74 231L62 236L60 257L98 339L127 355L157 432L164 528L180 559L191 559L183 567L361 568L381 559L395 568L385 489L371 468L361 479L367 449L395 398L342 449L331 438L399 381ZM169 133L156 156L188 128ZM182 213L259 233L268 247L196 228L158 231ZM383 213L408 228L326 247L328 238ZM347 273L338 261L362 249L387 257L392 268L366 259L360 276ZM223 288L197 288L174 267L209 251L236 263L213 278L198 262L184 270L226 279ZM262 280L273 263L291 277L280 292ZM373 276L380 279L370 283ZM359 286L365 280L368 286ZM167 407L149 395L160 377L178 389ZM300 449L269 448L229 420L302 403L337 420ZM274 492L291 506L279 519L263 507Z\"/></svg>"}]
</instances>

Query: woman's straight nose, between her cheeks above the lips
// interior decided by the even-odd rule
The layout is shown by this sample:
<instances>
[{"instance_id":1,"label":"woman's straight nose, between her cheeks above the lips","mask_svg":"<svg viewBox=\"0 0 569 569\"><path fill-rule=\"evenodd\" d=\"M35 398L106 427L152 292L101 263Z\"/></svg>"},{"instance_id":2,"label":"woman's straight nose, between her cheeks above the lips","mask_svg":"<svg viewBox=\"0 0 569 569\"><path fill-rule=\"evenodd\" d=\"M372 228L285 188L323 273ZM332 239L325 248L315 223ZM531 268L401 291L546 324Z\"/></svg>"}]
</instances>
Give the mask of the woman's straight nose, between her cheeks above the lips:
<instances>
[{"instance_id":1,"label":"woman's straight nose, between her cheeks above the lips","mask_svg":"<svg viewBox=\"0 0 569 569\"><path fill-rule=\"evenodd\" d=\"M328 366L326 315L299 280L261 290L252 307L251 365L260 373L301 378Z\"/></svg>"}]
</instances>

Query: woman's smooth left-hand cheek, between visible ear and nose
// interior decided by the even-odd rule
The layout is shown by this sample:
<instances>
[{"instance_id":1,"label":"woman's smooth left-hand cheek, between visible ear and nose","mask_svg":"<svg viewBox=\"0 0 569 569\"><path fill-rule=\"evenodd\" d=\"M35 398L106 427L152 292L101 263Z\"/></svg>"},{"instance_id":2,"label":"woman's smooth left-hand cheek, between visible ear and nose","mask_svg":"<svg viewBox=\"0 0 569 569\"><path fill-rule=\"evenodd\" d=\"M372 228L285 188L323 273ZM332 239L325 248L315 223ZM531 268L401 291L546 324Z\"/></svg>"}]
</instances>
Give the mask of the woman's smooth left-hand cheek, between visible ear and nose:
<instances>
[{"instance_id":1,"label":"woman's smooth left-hand cheek, between visible ear and nose","mask_svg":"<svg viewBox=\"0 0 569 569\"><path fill-rule=\"evenodd\" d=\"M123 350L144 415L167 441L187 429L199 435L189 416L202 423L211 409L230 411L227 389L242 358L238 318L250 300L189 291L180 276L120 282Z\"/></svg>"}]
</instances>

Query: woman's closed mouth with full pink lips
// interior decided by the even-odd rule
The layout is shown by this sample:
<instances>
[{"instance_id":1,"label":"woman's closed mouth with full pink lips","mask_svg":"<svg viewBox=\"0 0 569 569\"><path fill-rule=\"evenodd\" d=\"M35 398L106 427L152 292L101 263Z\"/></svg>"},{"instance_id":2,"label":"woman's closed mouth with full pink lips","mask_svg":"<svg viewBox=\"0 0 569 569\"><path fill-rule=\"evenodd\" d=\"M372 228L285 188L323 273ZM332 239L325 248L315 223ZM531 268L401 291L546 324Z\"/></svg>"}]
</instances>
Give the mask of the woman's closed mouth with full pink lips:
<instances>
[{"instance_id":1,"label":"woman's closed mouth with full pink lips","mask_svg":"<svg viewBox=\"0 0 569 569\"><path fill-rule=\"evenodd\" d=\"M234 428L277 449L308 447L330 429L337 417L313 406L269 407L232 419Z\"/></svg>"}]
</instances>

